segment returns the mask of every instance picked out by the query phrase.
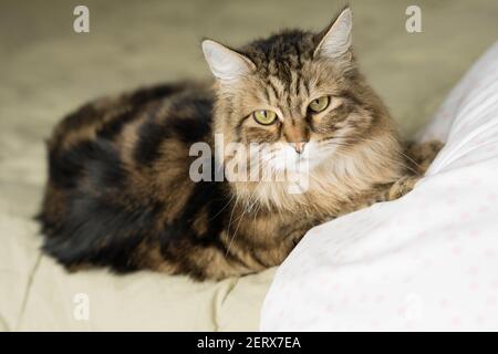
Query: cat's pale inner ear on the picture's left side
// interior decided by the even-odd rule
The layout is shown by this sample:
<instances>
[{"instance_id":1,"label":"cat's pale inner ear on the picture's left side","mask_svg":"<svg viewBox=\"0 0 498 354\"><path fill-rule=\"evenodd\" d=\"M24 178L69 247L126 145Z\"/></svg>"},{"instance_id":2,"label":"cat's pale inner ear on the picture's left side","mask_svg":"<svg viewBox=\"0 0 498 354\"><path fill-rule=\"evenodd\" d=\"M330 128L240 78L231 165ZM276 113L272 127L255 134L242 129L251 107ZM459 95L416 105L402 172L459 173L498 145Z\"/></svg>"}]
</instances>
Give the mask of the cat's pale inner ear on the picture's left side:
<instances>
[{"instance_id":1,"label":"cat's pale inner ear on the picture's left side","mask_svg":"<svg viewBox=\"0 0 498 354\"><path fill-rule=\"evenodd\" d=\"M248 58L215 41L203 41L203 52L218 80L236 81L255 70L255 64Z\"/></svg>"}]
</instances>

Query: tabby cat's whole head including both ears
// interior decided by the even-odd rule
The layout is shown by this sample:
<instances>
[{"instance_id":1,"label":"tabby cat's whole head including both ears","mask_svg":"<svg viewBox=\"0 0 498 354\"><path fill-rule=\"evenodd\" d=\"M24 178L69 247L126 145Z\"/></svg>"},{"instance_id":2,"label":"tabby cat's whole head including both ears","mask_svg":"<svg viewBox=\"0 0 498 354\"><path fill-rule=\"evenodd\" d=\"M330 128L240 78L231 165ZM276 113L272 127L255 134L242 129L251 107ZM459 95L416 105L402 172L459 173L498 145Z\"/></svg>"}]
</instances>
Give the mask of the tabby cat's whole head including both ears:
<instances>
[{"instance_id":1,"label":"tabby cat's whole head including both ears","mask_svg":"<svg viewBox=\"0 0 498 354\"><path fill-rule=\"evenodd\" d=\"M320 33L283 31L238 50L205 40L217 82L215 133L261 144L277 173L333 164L360 145L396 148L391 118L357 71L351 32L345 8Z\"/></svg>"}]
</instances>

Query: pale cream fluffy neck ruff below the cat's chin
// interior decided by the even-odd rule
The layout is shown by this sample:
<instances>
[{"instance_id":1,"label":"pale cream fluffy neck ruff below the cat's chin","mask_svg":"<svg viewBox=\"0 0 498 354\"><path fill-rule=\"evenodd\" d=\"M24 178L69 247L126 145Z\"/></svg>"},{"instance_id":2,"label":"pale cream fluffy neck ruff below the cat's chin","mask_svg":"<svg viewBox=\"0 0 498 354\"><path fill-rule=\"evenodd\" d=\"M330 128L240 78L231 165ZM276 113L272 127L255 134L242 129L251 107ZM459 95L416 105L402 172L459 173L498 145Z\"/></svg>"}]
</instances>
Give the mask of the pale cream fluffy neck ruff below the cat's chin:
<instances>
[{"instance_id":1,"label":"pale cream fluffy neck ruff below the cat's chin","mask_svg":"<svg viewBox=\"0 0 498 354\"><path fill-rule=\"evenodd\" d=\"M387 146L386 146L387 148ZM392 183L402 176L403 162L395 149L374 150L361 144L354 154L336 154L307 173L283 181L230 183L234 195L255 206L284 212L336 215L375 185ZM301 186L295 181L305 180ZM301 189L299 189L301 188Z\"/></svg>"}]
</instances>

